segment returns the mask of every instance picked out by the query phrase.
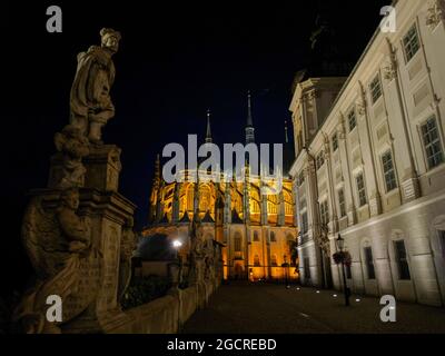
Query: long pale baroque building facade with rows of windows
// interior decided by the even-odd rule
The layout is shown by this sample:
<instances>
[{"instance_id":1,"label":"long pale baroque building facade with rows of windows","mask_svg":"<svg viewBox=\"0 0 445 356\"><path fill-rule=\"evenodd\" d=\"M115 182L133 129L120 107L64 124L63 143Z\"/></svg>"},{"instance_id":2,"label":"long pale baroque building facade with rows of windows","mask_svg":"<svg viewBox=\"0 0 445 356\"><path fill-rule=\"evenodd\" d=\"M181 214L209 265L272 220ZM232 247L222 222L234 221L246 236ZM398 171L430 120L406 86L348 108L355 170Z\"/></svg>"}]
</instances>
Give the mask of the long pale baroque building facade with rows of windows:
<instances>
[{"instance_id":1,"label":"long pale baroque building facade with rows of windows","mask_svg":"<svg viewBox=\"0 0 445 356\"><path fill-rule=\"evenodd\" d=\"M445 303L445 6L395 1L348 78L305 78L290 103L300 278Z\"/></svg>"}]
</instances>

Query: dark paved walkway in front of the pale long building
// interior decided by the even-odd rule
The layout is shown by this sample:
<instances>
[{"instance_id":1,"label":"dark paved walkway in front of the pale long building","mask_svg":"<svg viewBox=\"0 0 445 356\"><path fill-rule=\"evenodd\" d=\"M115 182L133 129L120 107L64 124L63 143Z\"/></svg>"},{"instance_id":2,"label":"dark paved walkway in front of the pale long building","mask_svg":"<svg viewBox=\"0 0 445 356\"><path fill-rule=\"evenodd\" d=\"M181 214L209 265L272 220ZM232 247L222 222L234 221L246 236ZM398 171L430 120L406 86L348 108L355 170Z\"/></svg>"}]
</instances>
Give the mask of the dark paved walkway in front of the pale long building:
<instances>
[{"instance_id":1,"label":"dark paved walkway in front of the pale long building","mask_svg":"<svg viewBox=\"0 0 445 356\"><path fill-rule=\"evenodd\" d=\"M445 333L445 308L398 301L397 322L383 323L378 298L353 296L350 304L345 307L343 295L332 290L231 281L195 313L182 333Z\"/></svg>"}]
</instances>

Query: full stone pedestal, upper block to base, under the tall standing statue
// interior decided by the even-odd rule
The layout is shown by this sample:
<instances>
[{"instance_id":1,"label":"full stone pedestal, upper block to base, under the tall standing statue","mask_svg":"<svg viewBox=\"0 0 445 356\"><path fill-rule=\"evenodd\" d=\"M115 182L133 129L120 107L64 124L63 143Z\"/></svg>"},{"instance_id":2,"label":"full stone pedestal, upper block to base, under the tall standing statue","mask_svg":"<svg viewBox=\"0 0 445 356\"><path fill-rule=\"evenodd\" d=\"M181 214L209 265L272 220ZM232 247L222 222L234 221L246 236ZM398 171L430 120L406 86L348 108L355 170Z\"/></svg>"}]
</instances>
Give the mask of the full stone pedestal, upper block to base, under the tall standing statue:
<instances>
[{"instance_id":1,"label":"full stone pedestal, upper block to base, under the tall standing statue","mask_svg":"<svg viewBox=\"0 0 445 356\"><path fill-rule=\"evenodd\" d=\"M121 249L126 229L132 228L136 206L118 192L119 174L121 170L120 148L113 145L91 146L90 155L83 159L87 169L85 188L80 188L80 205L78 215L89 221L91 229L91 246L98 253L99 283L88 285L96 295L95 301L78 317L62 324L63 333L102 333L107 320L119 316L118 300ZM55 187L62 177L62 157L60 154L51 157L49 186ZM48 206L56 207L60 190L41 189L34 195L43 195Z\"/></svg>"}]
</instances>

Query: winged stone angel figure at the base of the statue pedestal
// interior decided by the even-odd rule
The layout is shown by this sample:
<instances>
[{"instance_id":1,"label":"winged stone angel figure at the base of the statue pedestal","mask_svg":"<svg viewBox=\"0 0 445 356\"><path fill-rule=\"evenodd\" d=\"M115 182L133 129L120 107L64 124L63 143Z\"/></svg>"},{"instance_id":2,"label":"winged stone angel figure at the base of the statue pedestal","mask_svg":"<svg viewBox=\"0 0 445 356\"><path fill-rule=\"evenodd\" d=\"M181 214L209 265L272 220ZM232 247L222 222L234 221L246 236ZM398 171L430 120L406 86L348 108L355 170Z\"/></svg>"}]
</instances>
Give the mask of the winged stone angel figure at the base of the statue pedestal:
<instances>
[{"instance_id":1,"label":"winged stone angel figure at the base of the statue pedestal","mask_svg":"<svg viewBox=\"0 0 445 356\"><path fill-rule=\"evenodd\" d=\"M42 197L31 200L22 225L22 241L36 270L36 281L14 310L13 322L28 334L60 333L96 298L100 285L99 257L91 246L89 224L77 215L79 192L61 192L56 210ZM62 322L46 317L47 298L62 300Z\"/></svg>"}]
</instances>

